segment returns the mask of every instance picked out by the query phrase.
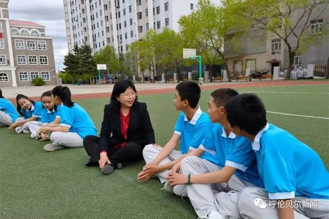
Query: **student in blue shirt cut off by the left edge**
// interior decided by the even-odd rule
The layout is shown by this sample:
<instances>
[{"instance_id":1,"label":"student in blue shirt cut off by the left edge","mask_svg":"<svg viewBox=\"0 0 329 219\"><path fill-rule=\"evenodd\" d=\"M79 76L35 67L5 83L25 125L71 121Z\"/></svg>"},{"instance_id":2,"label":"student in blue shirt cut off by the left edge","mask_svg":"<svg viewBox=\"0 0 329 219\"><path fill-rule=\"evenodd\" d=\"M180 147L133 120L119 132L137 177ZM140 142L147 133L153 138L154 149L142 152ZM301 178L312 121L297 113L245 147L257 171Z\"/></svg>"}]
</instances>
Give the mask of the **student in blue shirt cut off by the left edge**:
<instances>
[{"instance_id":1,"label":"student in blue shirt cut off by the left edge","mask_svg":"<svg viewBox=\"0 0 329 219\"><path fill-rule=\"evenodd\" d=\"M19 117L14 105L2 95L0 89L0 127L10 126Z\"/></svg>"}]
</instances>

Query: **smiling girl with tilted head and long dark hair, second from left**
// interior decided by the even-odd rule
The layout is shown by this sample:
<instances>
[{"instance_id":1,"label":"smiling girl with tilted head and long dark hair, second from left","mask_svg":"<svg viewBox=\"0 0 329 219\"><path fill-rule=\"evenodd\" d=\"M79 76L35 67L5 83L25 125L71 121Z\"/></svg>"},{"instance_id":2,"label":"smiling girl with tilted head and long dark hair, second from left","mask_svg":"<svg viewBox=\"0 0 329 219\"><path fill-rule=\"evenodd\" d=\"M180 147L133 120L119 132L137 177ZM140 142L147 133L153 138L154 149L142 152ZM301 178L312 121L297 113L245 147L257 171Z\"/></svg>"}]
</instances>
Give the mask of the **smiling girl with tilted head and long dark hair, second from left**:
<instances>
[{"instance_id":1,"label":"smiling girl with tilted head and long dark hair, second from left","mask_svg":"<svg viewBox=\"0 0 329 219\"><path fill-rule=\"evenodd\" d=\"M16 96L17 111L22 117L9 126L10 130L15 130L17 133L31 133L28 127L28 122L35 121L41 124L42 103L34 102L29 97L18 94Z\"/></svg>"}]
</instances>

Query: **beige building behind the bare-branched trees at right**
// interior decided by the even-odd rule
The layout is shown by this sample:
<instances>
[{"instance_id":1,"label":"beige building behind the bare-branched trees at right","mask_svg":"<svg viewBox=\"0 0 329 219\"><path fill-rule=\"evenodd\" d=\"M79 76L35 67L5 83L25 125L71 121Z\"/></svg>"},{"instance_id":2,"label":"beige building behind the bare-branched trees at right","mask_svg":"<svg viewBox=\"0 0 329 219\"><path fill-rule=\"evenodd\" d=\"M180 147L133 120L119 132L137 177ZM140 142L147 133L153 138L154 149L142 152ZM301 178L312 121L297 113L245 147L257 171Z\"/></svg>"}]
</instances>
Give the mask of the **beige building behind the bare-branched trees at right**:
<instances>
[{"instance_id":1,"label":"beige building behind the bare-branched trees at right","mask_svg":"<svg viewBox=\"0 0 329 219\"><path fill-rule=\"evenodd\" d=\"M310 16L309 27L306 30L307 34L315 34L329 28L329 8L326 8L326 11L317 16L316 14L318 14L317 12L322 8L322 5L319 3L316 7L314 14ZM292 17L294 18L294 16ZM288 41L291 46L296 45L296 38L293 36L288 37ZM240 45L240 51L236 52L235 49L235 52L230 53L227 58L228 68L231 72L245 73L246 69L250 69L251 73L254 70L273 73L273 67L275 66L282 68L288 66L288 48L276 34L264 34L264 32L245 34L241 37ZM234 49L227 44L224 51L234 51ZM305 67L308 64L325 66L328 57L329 38L322 37L318 44L311 46L303 54L294 57L293 67Z\"/></svg>"}]
</instances>

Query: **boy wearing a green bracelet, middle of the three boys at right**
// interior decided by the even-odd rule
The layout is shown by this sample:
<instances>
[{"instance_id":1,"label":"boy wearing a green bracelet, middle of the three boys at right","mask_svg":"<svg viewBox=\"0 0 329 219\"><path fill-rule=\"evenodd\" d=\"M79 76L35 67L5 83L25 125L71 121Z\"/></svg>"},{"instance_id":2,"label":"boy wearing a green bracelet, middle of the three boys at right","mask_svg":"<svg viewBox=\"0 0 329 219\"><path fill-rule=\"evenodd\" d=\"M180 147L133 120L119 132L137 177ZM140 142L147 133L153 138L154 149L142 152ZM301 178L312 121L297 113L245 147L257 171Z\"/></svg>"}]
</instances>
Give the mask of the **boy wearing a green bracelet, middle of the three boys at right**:
<instances>
[{"instance_id":1,"label":"boy wearing a green bracelet, middle of the three boys at right","mask_svg":"<svg viewBox=\"0 0 329 219\"><path fill-rule=\"evenodd\" d=\"M240 192L247 186L263 186L251 142L228 129L224 104L236 95L229 88L211 93L208 113L211 122L219 124L197 149L190 148L193 151L180 163L182 174L169 173L174 192L177 187L185 187L195 212L202 218L240 218ZM200 158L205 151L216 155L217 162Z\"/></svg>"}]
</instances>

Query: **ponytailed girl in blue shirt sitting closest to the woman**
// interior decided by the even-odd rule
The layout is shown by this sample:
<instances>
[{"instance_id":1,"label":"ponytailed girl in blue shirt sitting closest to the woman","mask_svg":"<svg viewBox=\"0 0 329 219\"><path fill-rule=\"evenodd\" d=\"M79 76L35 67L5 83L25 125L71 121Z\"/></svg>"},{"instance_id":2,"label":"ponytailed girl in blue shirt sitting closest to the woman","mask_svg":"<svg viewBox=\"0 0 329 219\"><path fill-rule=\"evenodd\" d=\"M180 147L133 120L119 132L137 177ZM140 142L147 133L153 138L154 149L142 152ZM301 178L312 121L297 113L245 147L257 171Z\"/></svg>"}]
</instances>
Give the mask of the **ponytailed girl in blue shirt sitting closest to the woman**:
<instances>
[{"instance_id":1,"label":"ponytailed girl in blue shirt sitting closest to the woman","mask_svg":"<svg viewBox=\"0 0 329 219\"><path fill-rule=\"evenodd\" d=\"M41 128L42 133L50 134L51 144L44 146L46 151L83 147L86 135L97 135L97 129L88 113L77 103L71 101L68 87L57 86L51 91L54 104L62 105L60 109L60 126Z\"/></svg>"}]
</instances>

